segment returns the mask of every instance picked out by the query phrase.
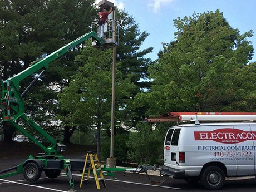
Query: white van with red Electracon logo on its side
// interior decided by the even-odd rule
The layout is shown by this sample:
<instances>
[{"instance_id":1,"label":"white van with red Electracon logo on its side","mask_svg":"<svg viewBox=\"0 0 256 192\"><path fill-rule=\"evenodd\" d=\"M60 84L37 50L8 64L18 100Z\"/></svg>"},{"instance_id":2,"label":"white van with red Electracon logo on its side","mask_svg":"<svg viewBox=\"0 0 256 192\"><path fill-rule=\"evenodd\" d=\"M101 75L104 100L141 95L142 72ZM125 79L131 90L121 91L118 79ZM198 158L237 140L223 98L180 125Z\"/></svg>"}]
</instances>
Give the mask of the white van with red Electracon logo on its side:
<instances>
[{"instance_id":1,"label":"white van with red Electracon logo on its side","mask_svg":"<svg viewBox=\"0 0 256 192\"><path fill-rule=\"evenodd\" d=\"M219 190L226 176L255 176L256 123L184 124L171 127L161 172Z\"/></svg>"}]
</instances>

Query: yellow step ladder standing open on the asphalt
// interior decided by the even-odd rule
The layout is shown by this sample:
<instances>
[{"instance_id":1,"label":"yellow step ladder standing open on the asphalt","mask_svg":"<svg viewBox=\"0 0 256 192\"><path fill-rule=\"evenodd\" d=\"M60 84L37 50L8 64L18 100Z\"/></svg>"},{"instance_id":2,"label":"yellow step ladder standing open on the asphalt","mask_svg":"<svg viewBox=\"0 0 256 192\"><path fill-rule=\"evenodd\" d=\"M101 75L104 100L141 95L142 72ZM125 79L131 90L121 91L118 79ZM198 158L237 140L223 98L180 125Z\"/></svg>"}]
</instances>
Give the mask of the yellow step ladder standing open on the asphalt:
<instances>
[{"instance_id":1,"label":"yellow step ladder standing open on the asphalt","mask_svg":"<svg viewBox=\"0 0 256 192\"><path fill-rule=\"evenodd\" d=\"M88 168L86 168L88 158L90 158L90 163L89 163ZM103 173L101 170L100 162L99 162L96 151L87 151L86 158L85 158L85 165L83 166L83 173L82 173L82 178L81 178L81 182L80 182L80 188L82 187L83 181L86 181L86 185L88 184L91 169L93 170L97 189L100 189L99 181L102 181L104 187L106 188L107 185L104 180L104 176L103 176ZM87 174L87 179L83 180L83 176L85 175L85 170L88 170L88 174ZM99 172L100 178L98 178L97 172Z\"/></svg>"}]
</instances>

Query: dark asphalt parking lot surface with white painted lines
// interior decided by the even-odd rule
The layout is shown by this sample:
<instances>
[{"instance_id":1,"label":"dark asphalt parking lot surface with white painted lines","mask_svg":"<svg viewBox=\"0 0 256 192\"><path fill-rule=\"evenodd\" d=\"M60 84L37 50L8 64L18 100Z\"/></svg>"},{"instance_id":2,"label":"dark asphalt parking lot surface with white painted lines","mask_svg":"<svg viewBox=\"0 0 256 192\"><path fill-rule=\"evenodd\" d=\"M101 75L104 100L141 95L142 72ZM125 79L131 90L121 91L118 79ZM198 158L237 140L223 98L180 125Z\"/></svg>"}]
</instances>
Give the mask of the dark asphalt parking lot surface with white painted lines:
<instances>
[{"instance_id":1,"label":"dark asphalt parking lot surface with white painted lines","mask_svg":"<svg viewBox=\"0 0 256 192\"><path fill-rule=\"evenodd\" d=\"M0 160L0 170L10 168L12 165L17 165L26 159L1 159ZM134 174L134 173L124 173L116 172L115 178L110 178L105 176L107 187L104 188L102 183L100 183L100 191L207 191L201 187L200 183L196 185L190 185L184 180L176 180L173 178L168 178L164 183L160 185L152 185L149 178L144 174ZM93 174L91 174L93 176ZM163 178L159 176L153 176L155 180L161 180ZM96 188L94 178L90 178L88 185L82 185L79 188L81 173L78 171L73 171L73 178L75 179L75 190L77 191L98 191ZM15 175L6 179L0 179L0 191L68 191L69 184L67 176L65 173L56 179L48 179L44 173L42 173L41 178L33 183L29 183L24 180L23 175ZM255 191L256 189L256 179L254 177L247 178L227 178L226 184L221 191Z\"/></svg>"}]
</instances>

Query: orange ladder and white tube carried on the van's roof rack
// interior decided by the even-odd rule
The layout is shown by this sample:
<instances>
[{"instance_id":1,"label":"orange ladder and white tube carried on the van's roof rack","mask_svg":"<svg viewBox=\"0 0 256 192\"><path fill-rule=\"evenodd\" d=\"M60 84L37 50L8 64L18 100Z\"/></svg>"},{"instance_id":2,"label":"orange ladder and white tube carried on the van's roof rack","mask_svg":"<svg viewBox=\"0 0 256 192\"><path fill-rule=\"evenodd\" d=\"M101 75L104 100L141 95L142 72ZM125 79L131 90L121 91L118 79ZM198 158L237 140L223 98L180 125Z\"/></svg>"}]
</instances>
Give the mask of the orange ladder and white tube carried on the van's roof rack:
<instances>
[{"instance_id":1,"label":"orange ladder and white tube carried on the van's roof rack","mask_svg":"<svg viewBox=\"0 0 256 192\"><path fill-rule=\"evenodd\" d=\"M147 122L183 121L255 121L256 112L168 112L159 117L147 117Z\"/></svg>"}]
</instances>

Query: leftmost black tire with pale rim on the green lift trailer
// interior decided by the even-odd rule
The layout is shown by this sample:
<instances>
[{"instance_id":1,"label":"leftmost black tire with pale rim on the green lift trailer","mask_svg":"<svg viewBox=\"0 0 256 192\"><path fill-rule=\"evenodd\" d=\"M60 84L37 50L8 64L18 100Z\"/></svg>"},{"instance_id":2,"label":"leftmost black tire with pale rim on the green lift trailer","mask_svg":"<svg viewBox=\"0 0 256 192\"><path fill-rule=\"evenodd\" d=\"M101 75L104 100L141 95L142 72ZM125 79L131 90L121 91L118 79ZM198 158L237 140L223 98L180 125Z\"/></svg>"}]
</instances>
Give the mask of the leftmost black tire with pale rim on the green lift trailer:
<instances>
[{"instance_id":1,"label":"leftmost black tire with pale rim on the green lift trailer","mask_svg":"<svg viewBox=\"0 0 256 192\"><path fill-rule=\"evenodd\" d=\"M31 162L24 166L23 176L29 182L38 180L41 174L42 170L35 163Z\"/></svg>"}]
</instances>

